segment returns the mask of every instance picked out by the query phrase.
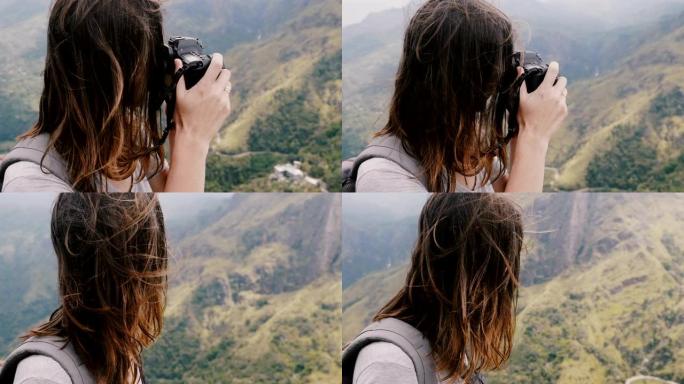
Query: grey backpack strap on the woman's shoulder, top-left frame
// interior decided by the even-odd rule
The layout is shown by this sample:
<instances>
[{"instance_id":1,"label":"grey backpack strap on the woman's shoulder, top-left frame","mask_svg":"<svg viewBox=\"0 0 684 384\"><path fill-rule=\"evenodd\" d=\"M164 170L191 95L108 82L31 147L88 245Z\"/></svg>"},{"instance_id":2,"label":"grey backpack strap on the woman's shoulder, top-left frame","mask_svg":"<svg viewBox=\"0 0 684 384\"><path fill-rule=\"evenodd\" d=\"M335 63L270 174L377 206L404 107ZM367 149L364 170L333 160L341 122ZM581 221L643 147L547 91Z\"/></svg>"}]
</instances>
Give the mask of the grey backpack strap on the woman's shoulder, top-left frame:
<instances>
[{"instance_id":1,"label":"grey backpack strap on the woman's shoulder, top-left frame","mask_svg":"<svg viewBox=\"0 0 684 384\"><path fill-rule=\"evenodd\" d=\"M40 165L44 172L49 172L71 185L69 172L62 157L54 150L47 150L49 141L50 136L47 134L19 141L0 163L0 189L5 180L7 168L24 161Z\"/></svg>"}]
</instances>

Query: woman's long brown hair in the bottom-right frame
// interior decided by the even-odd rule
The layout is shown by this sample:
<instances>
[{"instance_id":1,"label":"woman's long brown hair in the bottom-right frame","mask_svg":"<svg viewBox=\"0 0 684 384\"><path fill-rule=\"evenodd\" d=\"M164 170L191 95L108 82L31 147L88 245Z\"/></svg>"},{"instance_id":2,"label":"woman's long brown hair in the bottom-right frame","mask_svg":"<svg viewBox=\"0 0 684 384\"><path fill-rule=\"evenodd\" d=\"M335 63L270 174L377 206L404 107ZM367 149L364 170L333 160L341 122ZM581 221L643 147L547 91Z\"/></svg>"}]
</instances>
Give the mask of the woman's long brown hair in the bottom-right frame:
<instances>
[{"instance_id":1,"label":"woman's long brown hair in the bottom-right frame","mask_svg":"<svg viewBox=\"0 0 684 384\"><path fill-rule=\"evenodd\" d=\"M403 320L430 341L447 379L470 383L510 357L523 246L505 197L437 194L420 217L405 286L375 316Z\"/></svg>"}]
</instances>

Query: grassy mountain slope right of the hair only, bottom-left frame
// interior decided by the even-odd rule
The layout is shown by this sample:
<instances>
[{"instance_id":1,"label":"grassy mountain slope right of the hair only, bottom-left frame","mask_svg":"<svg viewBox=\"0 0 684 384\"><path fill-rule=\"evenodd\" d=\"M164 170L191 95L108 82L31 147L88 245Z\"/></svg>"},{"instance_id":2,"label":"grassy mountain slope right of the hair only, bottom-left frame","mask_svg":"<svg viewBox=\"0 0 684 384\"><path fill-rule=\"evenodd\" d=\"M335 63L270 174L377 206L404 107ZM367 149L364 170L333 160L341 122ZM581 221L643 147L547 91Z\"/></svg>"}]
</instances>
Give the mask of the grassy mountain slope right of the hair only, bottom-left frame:
<instances>
[{"instance_id":1,"label":"grassy mountain slope right of the hair only, bottom-left frame","mask_svg":"<svg viewBox=\"0 0 684 384\"><path fill-rule=\"evenodd\" d=\"M341 282L326 245L339 242L319 230L336 226L335 199L238 199L178 246L182 277L169 293L165 335L147 354L151 378L217 382L230 372L234 383L331 382L340 374ZM292 231L313 240L303 244Z\"/></svg>"}]
</instances>

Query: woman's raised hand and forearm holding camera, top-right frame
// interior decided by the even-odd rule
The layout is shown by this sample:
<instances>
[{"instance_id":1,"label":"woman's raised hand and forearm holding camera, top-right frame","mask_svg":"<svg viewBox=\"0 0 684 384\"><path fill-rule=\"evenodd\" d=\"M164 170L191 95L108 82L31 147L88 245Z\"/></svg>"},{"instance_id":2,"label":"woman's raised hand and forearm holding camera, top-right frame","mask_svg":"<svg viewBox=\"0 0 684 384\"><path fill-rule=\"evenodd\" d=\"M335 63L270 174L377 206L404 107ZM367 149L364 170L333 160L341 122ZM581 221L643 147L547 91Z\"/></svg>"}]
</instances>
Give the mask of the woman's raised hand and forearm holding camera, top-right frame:
<instances>
[{"instance_id":1,"label":"woman's raised hand and forearm holding camera, top-right frame","mask_svg":"<svg viewBox=\"0 0 684 384\"><path fill-rule=\"evenodd\" d=\"M551 63L544 82L532 93L527 92L523 82L518 111L520 132L511 142L511 172L505 192L544 190L549 142L568 115L568 79L558 78L559 73L560 65ZM522 75L522 68L518 74Z\"/></svg>"}]
</instances>

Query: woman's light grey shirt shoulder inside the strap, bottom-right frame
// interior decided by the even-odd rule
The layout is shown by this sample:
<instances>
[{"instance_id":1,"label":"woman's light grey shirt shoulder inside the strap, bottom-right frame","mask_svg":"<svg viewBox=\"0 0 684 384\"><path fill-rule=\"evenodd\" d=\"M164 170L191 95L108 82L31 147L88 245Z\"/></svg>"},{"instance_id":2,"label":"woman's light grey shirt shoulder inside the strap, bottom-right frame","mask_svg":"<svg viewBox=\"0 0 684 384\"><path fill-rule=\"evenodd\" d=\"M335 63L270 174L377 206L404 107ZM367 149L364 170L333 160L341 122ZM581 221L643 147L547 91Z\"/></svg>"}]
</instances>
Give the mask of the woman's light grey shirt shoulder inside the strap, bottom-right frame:
<instances>
[{"instance_id":1,"label":"woman's light grey shirt shoulder inside the strap, bottom-right frame","mask_svg":"<svg viewBox=\"0 0 684 384\"><path fill-rule=\"evenodd\" d=\"M354 366L355 384L417 384L413 362L398 346L387 342L368 344Z\"/></svg>"}]
</instances>

